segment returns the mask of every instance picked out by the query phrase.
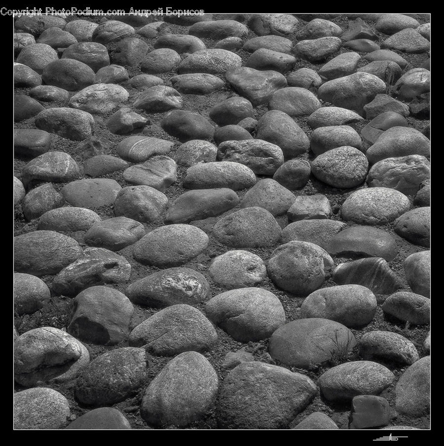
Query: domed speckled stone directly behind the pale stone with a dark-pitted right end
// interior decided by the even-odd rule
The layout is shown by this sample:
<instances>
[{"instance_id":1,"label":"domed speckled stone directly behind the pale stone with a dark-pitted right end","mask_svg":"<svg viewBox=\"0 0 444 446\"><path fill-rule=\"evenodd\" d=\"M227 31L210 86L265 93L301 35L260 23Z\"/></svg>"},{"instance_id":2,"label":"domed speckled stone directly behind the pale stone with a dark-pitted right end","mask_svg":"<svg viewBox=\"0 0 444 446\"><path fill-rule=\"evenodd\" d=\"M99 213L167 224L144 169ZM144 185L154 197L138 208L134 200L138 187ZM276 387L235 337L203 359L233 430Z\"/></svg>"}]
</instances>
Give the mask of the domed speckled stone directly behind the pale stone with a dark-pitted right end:
<instances>
[{"instance_id":1,"label":"domed speckled stone directly behind the pale stone with a dark-pitted right end","mask_svg":"<svg viewBox=\"0 0 444 446\"><path fill-rule=\"evenodd\" d=\"M226 246L257 248L276 244L281 228L266 209L246 207L222 217L213 235Z\"/></svg>"}]
</instances>

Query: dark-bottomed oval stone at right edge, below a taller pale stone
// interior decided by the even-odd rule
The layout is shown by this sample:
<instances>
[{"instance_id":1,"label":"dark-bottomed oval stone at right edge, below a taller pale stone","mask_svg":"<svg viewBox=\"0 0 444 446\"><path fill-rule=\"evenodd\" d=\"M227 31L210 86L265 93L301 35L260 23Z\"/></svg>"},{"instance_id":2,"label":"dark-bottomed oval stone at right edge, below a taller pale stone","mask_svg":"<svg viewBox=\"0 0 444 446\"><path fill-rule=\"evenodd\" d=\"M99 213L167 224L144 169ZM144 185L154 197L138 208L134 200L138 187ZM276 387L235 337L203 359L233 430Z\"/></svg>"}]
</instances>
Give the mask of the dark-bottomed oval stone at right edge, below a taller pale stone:
<instances>
[{"instance_id":1,"label":"dark-bottomed oval stone at right edge, below a taller pale stone","mask_svg":"<svg viewBox=\"0 0 444 446\"><path fill-rule=\"evenodd\" d=\"M382 311L403 322L424 325L430 322L430 299L408 291L398 291L384 301Z\"/></svg>"}]
</instances>

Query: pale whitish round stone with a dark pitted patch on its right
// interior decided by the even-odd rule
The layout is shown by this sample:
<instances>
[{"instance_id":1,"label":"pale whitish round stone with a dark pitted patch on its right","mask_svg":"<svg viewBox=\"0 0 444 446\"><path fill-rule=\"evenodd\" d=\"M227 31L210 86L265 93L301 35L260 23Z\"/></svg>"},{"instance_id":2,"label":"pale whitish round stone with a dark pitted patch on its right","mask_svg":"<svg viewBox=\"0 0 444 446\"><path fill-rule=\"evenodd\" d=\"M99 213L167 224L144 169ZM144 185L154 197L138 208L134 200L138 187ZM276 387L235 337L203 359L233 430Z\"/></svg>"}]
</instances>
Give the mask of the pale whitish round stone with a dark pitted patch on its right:
<instances>
[{"instance_id":1,"label":"pale whitish round stone with a dark pitted patch on its right","mask_svg":"<svg viewBox=\"0 0 444 446\"><path fill-rule=\"evenodd\" d=\"M263 260L252 252L240 249L215 257L208 274L217 285L227 290L253 287L267 278Z\"/></svg>"}]
</instances>

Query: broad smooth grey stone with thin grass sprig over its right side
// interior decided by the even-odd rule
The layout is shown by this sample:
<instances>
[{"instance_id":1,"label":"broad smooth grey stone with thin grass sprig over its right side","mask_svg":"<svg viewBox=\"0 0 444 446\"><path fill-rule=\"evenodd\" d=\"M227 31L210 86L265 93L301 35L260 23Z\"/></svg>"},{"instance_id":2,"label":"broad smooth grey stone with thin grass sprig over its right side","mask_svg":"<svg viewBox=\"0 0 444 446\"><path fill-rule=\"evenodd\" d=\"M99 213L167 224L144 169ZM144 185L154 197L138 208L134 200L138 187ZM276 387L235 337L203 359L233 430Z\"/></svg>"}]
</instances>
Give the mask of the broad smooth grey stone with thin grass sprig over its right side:
<instances>
[{"instance_id":1,"label":"broad smooth grey stone with thin grass sprig over its right side","mask_svg":"<svg viewBox=\"0 0 444 446\"><path fill-rule=\"evenodd\" d=\"M278 328L268 350L273 359L299 369L327 364L334 355L347 354L356 345L353 333L344 325L322 318L297 319Z\"/></svg>"}]
</instances>

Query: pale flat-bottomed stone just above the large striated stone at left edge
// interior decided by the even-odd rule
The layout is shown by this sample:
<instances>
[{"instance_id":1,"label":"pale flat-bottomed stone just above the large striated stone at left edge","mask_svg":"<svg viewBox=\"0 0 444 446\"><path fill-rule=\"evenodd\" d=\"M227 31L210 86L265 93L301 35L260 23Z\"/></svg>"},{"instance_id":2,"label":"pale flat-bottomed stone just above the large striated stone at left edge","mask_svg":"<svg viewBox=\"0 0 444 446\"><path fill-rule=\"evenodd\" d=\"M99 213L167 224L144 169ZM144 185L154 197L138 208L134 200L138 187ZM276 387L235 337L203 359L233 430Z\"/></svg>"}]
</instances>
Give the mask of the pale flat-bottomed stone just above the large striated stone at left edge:
<instances>
[{"instance_id":1,"label":"pale flat-bottomed stone just above the large striated stone at left edge","mask_svg":"<svg viewBox=\"0 0 444 446\"><path fill-rule=\"evenodd\" d=\"M83 207L59 207L45 212L39 219L37 230L46 231L88 231L95 223L102 221L91 209Z\"/></svg>"}]
</instances>

